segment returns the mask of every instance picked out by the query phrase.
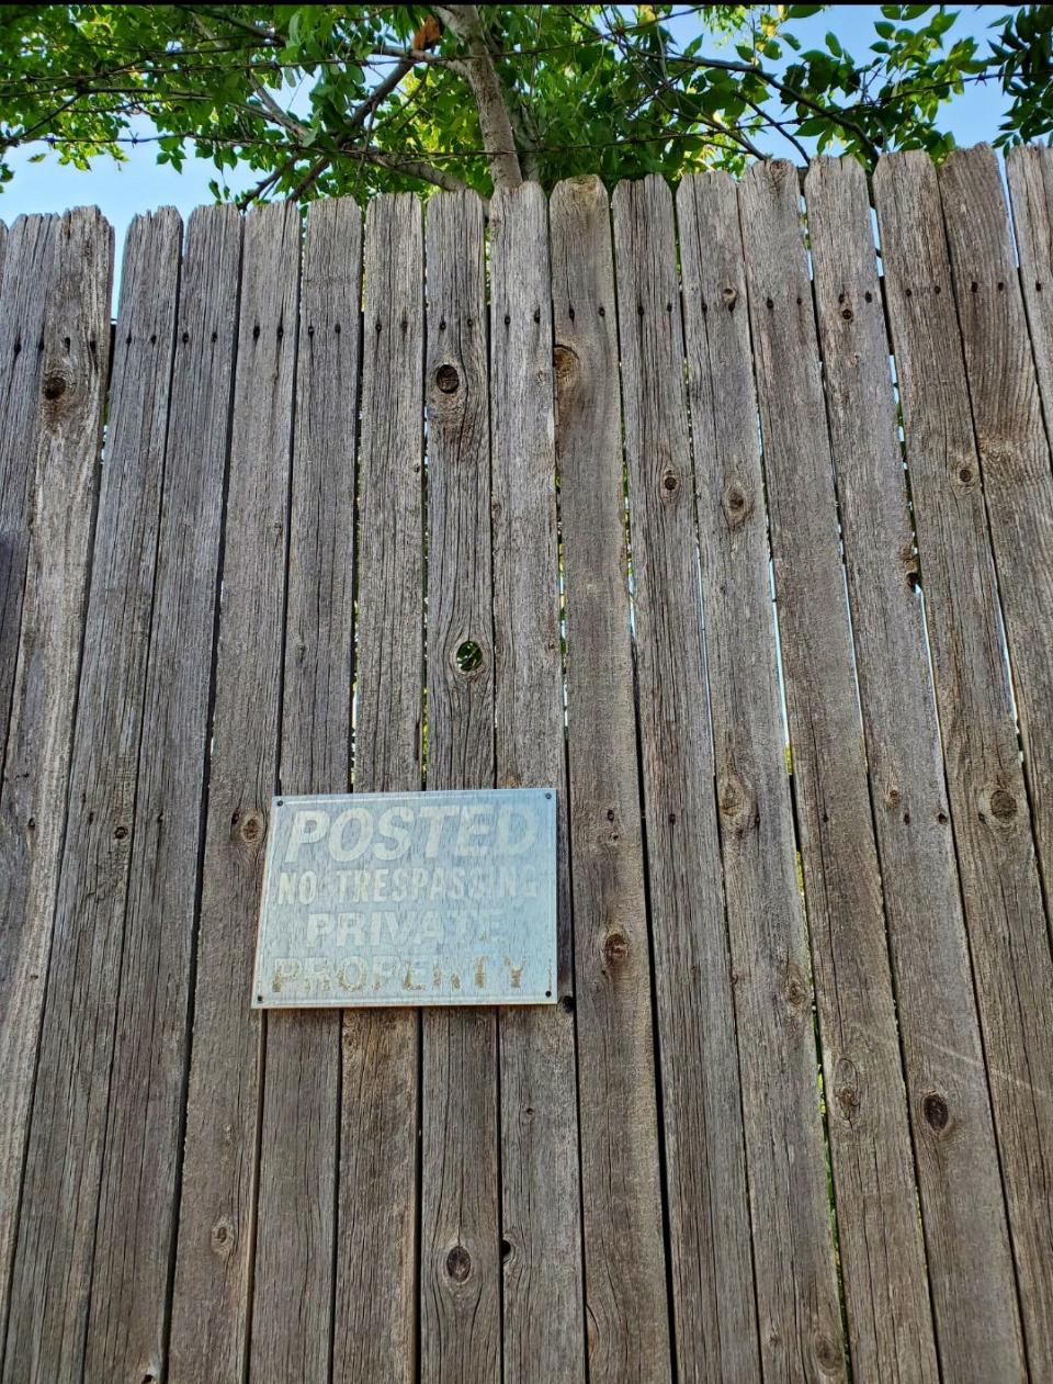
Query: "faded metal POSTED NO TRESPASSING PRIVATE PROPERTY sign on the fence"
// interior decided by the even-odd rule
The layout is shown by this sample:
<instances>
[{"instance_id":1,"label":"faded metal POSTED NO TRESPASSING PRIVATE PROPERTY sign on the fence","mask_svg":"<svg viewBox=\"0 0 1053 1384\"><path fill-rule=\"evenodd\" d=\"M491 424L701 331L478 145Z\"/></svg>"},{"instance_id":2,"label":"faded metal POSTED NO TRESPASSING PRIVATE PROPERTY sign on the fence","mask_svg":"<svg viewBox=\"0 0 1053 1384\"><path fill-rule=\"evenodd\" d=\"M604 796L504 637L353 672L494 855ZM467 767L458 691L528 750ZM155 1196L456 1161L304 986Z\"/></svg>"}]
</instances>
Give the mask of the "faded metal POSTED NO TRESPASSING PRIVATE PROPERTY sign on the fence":
<instances>
[{"instance_id":1,"label":"faded metal POSTED NO TRESPASSING PRIVATE PROPERTY sign on the fence","mask_svg":"<svg viewBox=\"0 0 1053 1384\"><path fill-rule=\"evenodd\" d=\"M253 1009L555 994L552 789L274 800Z\"/></svg>"}]
</instances>

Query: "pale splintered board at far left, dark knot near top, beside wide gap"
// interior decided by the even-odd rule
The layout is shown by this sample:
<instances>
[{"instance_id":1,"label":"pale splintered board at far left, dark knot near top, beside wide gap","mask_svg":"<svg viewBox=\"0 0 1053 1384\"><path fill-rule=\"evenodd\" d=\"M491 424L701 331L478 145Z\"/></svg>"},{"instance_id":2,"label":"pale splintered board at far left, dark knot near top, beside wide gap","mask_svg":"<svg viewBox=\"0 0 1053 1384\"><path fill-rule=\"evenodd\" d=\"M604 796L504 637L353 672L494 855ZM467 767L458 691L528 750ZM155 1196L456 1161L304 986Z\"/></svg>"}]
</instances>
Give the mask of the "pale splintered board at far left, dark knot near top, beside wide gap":
<instances>
[{"instance_id":1,"label":"pale splintered board at far left, dark knot near top, beside wide gap","mask_svg":"<svg viewBox=\"0 0 1053 1384\"><path fill-rule=\"evenodd\" d=\"M33 1099L59 883L77 675L98 494L113 237L95 209L55 233L44 311L30 540L11 729L0 789L0 1322ZM73 1092L76 1099L76 1092ZM46 1265L29 1264L29 1275ZM15 1301L24 1301L21 1293ZM8 1378L28 1378L32 1319L10 1318ZM53 1376L55 1377L55 1376Z\"/></svg>"}]
</instances>

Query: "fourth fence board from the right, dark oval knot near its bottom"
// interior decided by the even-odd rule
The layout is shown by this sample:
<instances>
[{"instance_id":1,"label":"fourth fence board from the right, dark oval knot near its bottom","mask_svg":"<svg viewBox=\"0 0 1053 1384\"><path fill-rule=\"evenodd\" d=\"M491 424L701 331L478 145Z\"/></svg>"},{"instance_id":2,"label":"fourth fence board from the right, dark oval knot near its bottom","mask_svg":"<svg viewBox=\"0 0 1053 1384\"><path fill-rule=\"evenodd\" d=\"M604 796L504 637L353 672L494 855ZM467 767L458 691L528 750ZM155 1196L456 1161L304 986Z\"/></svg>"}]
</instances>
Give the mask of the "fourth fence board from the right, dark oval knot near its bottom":
<instances>
[{"instance_id":1,"label":"fourth fence board from the right, dark oval knot near its bottom","mask_svg":"<svg viewBox=\"0 0 1053 1384\"><path fill-rule=\"evenodd\" d=\"M940 1359L946 1378L1013 1378L1021 1358L1013 1261L863 169L819 159L805 194ZM955 1113L952 1138L940 1100Z\"/></svg>"}]
</instances>

